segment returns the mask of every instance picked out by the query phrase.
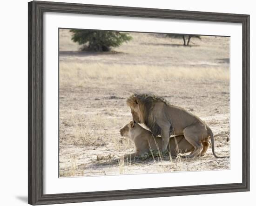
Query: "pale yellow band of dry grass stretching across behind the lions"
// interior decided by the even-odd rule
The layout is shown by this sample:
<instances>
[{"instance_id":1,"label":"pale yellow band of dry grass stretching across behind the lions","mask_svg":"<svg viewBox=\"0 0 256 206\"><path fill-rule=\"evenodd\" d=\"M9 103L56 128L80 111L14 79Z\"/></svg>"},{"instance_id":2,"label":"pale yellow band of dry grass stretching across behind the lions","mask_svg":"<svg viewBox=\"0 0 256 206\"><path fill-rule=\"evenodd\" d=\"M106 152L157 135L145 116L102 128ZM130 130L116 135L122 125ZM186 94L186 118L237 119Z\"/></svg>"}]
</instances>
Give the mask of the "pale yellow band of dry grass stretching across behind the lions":
<instances>
[{"instance_id":1,"label":"pale yellow band of dry grass stretching across behind the lions","mask_svg":"<svg viewBox=\"0 0 256 206\"><path fill-rule=\"evenodd\" d=\"M74 62L60 63L61 86L83 86L96 81L105 84L105 80L125 81L127 83L141 83L145 81L166 82L177 79L214 79L229 80L229 68L215 67L171 67L171 66L148 66L148 65L105 65L83 64ZM72 68L72 69L70 69Z\"/></svg>"}]
</instances>

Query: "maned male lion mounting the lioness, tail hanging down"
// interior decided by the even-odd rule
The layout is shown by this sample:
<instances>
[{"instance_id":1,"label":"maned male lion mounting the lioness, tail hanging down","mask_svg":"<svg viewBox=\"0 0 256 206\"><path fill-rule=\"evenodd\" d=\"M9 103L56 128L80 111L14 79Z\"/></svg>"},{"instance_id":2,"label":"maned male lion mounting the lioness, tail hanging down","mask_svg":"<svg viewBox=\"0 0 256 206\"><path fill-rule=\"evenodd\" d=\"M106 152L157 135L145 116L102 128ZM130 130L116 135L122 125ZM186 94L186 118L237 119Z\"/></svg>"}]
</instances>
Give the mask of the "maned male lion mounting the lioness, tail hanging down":
<instances>
[{"instance_id":1,"label":"maned male lion mounting the lioness, tail hanging down","mask_svg":"<svg viewBox=\"0 0 256 206\"><path fill-rule=\"evenodd\" d=\"M199 117L189 113L179 106L170 105L161 97L149 94L133 94L127 99L131 108L133 120L145 124L154 136L161 134L162 151L167 149L170 135L184 135L185 139L194 147L188 157L193 157L209 147L209 137L214 151L214 136ZM228 139L227 139L228 141ZM221 157L224 158L224 157Z\"/></svg>"}]
</instances>

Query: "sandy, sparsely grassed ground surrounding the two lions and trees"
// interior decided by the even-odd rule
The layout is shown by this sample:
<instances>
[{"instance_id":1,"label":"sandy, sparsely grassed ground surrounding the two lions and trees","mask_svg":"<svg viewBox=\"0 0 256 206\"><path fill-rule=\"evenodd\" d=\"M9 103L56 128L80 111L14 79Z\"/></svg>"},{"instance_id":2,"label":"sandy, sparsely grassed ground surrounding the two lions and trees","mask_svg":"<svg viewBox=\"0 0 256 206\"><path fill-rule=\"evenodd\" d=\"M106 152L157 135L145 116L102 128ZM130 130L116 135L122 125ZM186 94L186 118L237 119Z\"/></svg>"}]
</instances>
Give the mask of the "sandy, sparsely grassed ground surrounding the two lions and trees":
<instances>
[{"instance_id":1,"label":"sandy, sparsely grassed ground surrounding the two lions and trees","mask_svg":"<svg viewBox=\"0 0 256 206\"><path fill-rule=\"evenodd\" d=\"M130 33L115 52L81 52L60 30L60 176L229 169L229 158L164 157L114 161L134 151L119 130L132 120L126 98L155 93L229 134L229 38L202 36L190 47L162 34ZM232 137L231 137L232 138ZM218 156L229 144L215 138Z\"/></svg>"}]
</instances>

